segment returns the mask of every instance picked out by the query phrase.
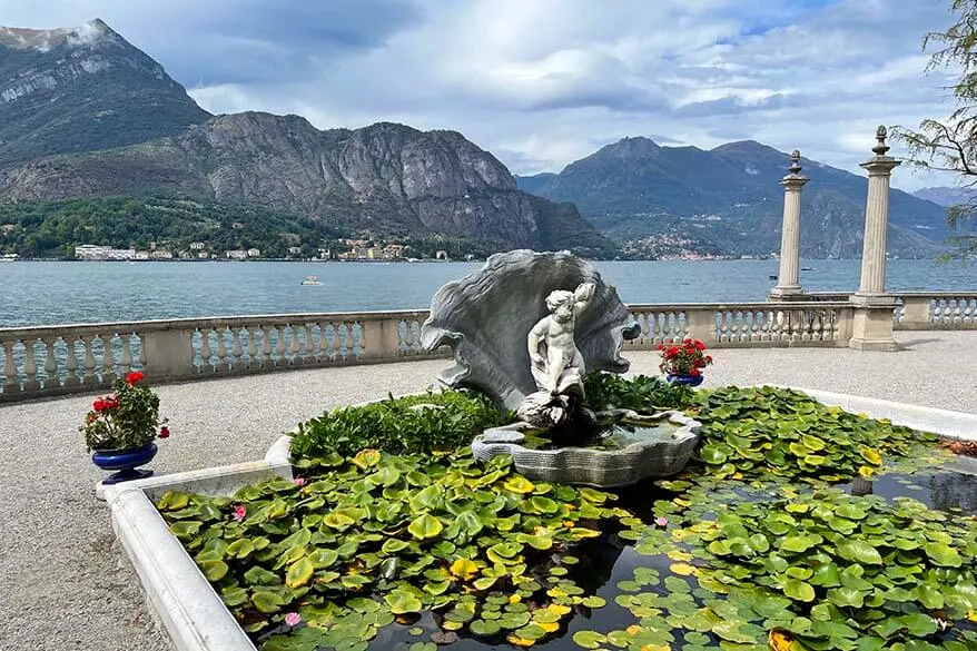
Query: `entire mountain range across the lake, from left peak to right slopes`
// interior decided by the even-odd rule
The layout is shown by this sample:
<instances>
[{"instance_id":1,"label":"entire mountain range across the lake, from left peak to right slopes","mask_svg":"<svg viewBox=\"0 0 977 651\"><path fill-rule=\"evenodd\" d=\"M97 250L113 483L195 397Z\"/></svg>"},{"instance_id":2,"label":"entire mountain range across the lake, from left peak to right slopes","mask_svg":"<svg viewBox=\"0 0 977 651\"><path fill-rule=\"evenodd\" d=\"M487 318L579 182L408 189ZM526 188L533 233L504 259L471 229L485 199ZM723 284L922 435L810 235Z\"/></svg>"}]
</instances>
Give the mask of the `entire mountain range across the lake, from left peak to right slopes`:
<instances>
[{"instance_id":1,"label":"entire mountain range across the lake, from left peak to right slopes","mask_svg":"<svg viewBox=\"0 0 977 651\"><path fill-rule=\"evenodd\" d=\"M298 116L213 116L101 20L0 28L0 203L23 210L57 200L186 199L206 214L254 205L284 215L263 213L263 224L309 219L374 237L477 239L496 250L767 255L779 249L777 181L788 164L787 154L753 141L702 150L639 137L560 174L513 177L456 131L389 122L320 130ZM802 164L811 178L802 254L859 256L865 178ZM49 213L45 204L32 214ZM30 223L0 221L0 235ZM83 235L82 226L75 231ZM892 193L890 253L932 255L945 234L944 208Z\"/></svg>"}]
</instances>

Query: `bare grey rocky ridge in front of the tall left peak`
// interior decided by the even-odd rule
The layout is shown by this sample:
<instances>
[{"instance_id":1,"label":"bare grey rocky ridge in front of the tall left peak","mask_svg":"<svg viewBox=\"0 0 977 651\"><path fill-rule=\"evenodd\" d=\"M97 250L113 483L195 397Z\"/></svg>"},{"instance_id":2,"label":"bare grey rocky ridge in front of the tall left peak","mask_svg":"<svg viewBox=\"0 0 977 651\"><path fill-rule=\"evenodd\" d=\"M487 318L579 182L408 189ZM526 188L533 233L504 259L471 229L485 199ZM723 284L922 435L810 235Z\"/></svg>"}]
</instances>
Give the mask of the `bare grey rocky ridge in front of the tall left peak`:
<instances>
[{"instance_id":1,"label":"bare grey rocky ridge in front of the tall left peak","mask_svg":"<svg viewBox=\"0 0 977 651\"><path fill-rule=\"evenodd\" d=\"M0 176L8 201L93 196L255 204L375 235L443 234L500 247L562 248L556 236L589 234L589 248L614 249L575 208L520 191L505 166L461 134L388 122L320 131L297 116L217 116L176 136L46 157ZM555 214L569 230L541 230L537 218Z\"/></svg>"}]
</instances>

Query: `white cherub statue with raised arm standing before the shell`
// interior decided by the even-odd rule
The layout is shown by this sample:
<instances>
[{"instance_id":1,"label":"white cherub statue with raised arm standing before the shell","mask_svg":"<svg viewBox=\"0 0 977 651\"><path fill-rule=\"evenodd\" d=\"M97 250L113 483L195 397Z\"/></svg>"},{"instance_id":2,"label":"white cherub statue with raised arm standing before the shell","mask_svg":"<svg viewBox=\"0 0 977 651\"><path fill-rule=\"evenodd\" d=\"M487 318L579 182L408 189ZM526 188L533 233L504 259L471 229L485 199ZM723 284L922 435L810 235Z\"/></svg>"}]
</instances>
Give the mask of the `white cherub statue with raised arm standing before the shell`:
<instances>
[{"instance_id":1,"label":"white cherub statue with raised arm standing before the shell","mask_svg":"<svg viewBox=\"0 0 977 651\"><path fill-rule=\"evenodd\" d=\"M550 314L532 327L526 343L539 392L527 396L520 414L536 424L560 425L583 401L583 355L573 338L576 317L590 305L595 285L583 283L573 292L546 296Z\"/></svg>"}]
</instances>

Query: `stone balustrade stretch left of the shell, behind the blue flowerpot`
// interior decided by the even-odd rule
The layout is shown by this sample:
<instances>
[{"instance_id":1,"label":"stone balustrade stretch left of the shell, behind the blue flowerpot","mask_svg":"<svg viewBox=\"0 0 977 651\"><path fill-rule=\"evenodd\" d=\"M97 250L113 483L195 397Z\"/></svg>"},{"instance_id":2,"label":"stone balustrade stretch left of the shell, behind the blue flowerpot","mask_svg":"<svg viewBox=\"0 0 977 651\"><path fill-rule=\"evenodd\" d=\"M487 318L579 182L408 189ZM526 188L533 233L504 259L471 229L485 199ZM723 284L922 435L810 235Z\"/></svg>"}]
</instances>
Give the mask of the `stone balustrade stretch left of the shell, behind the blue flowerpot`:
<instances>
[{"instance_id":1,"label":"stone balustrade stretch left of the shell, behind the blue flowerpot","mask_svg":"<svg viewBox=\"0 0 977 651\"><path fill-rule=\"evenodd\" d=\"M0 328L0 402L155 382L432 357L426 310L283 314Z\"/></svg>"}]
</instances>

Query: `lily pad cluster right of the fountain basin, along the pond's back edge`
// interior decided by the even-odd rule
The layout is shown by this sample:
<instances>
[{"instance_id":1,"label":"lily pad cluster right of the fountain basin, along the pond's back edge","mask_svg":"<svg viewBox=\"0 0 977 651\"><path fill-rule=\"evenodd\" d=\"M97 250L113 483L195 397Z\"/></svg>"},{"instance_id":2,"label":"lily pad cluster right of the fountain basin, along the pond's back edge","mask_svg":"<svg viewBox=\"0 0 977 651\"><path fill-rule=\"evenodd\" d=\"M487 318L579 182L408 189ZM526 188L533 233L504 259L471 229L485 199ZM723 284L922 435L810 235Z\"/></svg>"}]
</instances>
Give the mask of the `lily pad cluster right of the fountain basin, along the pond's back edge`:
<instances>
[{"instance_id":1,"label":"lily pad cluster right of the fountain basin, along the pond's back edge","mask_svg":"<svg viewBox=\"0 0 977 651\"><path fill-rule=\"evenodd\" d=\"M699 392L690 415L703 424L699 452L710 474L837 482L871 476L882 458L932 447L935 437L822 405L790 389L730 386ZM929 453L931 454L931 452Z\"/></svg>"}]
</instances>

